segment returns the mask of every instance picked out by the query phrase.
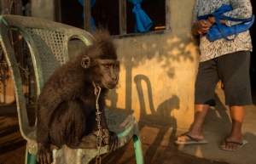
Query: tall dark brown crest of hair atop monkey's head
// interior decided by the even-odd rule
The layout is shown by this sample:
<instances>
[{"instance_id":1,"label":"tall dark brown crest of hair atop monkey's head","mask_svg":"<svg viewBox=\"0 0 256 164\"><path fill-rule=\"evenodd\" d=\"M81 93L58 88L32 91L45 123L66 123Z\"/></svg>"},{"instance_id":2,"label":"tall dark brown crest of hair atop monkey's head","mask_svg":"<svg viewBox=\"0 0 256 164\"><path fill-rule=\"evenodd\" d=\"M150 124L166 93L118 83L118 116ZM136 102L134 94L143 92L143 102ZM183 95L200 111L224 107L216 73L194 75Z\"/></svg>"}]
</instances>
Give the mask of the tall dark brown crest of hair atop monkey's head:
<instances>
[{"instance_id":1,"label":"tall dark brown crest of hair atop monkey's head","mask_svg":"<svg viewBox=\"0 0 256 164\"><path fill-rule=\"evenodd\" d=\"M117 59L116 48L113 38L108 29L99 27L93 34L92 44L88 46L89 55L92 59Z\"/></svg>"}]
</instances>

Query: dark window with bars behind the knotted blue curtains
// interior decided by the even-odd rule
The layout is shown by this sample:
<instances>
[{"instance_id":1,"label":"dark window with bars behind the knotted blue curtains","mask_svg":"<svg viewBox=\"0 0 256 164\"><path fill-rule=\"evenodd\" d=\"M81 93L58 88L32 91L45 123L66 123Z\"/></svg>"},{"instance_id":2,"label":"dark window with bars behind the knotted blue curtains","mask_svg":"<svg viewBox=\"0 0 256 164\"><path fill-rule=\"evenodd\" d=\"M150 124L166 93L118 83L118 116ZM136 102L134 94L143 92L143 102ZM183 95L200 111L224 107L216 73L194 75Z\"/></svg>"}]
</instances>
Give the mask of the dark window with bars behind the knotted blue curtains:
<instances>
[{"instance_id":1,"label":"dark window with bars behind the knotted blue curtains","mask_svg":"<svg viewBox=\"0 0 256 164\"><path fill-rule=\"evenodd\" d=\"M96 0L91 8L88 8L90 5L86 4L92 0L85 0L85 8L79 3L79 1L83 3L84 0L55 1L61 6L60 9L55 9L56 20L61 23L89 31L91 27L88 22L91 22L90 18L92 17L96 26L108 26L111 35L135 33L136 20L132 12L134 4L129 0ZM153 22L149 31L170 29L168 0L143 0L140 5ZM85 14L83 14L84 11Z\"/></svg>"}]
</instances>

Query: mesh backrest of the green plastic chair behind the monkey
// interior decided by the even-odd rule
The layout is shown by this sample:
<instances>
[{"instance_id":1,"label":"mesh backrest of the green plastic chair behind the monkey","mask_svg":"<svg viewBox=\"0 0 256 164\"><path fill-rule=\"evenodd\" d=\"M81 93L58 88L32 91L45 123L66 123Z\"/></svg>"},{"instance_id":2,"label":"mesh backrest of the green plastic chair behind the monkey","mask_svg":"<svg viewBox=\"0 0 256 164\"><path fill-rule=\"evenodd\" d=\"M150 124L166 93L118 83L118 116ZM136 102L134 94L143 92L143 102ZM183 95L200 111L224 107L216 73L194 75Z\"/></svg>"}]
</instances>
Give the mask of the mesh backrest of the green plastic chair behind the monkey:
<instances>
[{"instance_id":1,"label":"mesh backrest of the green plastic chair behind the monkey","mask_svg":"<svg viewBox=\"0 0 256 164\"><path fill-rule=\"evenodd\" d=\"M90 45L90 39L92 37L87 31L50 20L10 14L0 16L0 44L3 48L3 54L6 57L15 85L20 133L27 140L27 134L35 126L29 127L19 65L15 59L14 49L9 42L9 30L19 31L27 42L30 54L32 55L37 95L39 95L44 82L53 71L68 61L67 46L69 40L79 38L86 45Z\"/></svg>"}]
</instances>

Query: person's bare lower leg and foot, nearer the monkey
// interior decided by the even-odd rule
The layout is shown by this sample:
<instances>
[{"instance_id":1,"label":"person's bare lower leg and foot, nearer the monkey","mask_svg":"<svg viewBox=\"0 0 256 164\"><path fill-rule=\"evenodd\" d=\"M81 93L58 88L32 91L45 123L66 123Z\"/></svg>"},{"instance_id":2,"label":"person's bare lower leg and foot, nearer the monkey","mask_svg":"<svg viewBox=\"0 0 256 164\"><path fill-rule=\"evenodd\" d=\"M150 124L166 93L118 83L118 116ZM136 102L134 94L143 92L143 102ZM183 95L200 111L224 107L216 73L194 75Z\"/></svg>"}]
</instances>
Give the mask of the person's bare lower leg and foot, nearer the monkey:
<instances>
[{"instance_id":1,"label":"person's bare lower leg and foot, nearer the monkey","mask_svg":"<svg viewBox=\"0 0 256 164\"><path fill-rule=\"evenodd\" d=\"M202 140L204 139L203 133L202 133L202 127L203 123L205 122L205 118L207 116L207 111L209 109L209 105L195 105L195 114L194 114L194 123L192 128L190 128L189 132L186 133L189 136L193 137L196 140ZM188 136L182 135L181 137L177 138L177 141L189 141Z\"/></svg>"}]
</instances>

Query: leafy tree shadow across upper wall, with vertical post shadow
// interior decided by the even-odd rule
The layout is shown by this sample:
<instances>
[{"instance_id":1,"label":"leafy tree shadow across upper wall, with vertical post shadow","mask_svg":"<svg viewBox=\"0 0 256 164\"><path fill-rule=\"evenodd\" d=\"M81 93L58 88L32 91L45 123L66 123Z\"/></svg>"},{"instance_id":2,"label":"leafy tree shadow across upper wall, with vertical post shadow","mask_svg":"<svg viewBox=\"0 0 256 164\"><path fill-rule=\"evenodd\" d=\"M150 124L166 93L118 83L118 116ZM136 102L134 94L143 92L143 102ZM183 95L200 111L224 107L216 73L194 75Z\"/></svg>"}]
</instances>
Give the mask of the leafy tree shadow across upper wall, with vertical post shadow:
<instances>
[{"instance_id":1,"label":"leafy tree shadow across upper wall, with vertical post shadow","mask_svg":"<svg viewBox=\"0 0 256 164\"><path fill-rule=\"evenodd\" d=\"M193 54L196 53L197 42L190 33L160 35L145 37L132 37L131 39L122 39L119 42L118 54L122 54L119 60L124 65L125 70L125 112L131 113L132 78L134 69L154 60L154 65L160 66L166 76L173 78L177 76L176 63L195 62ZM184 39L187 38L187 39ZM154 70L155 66L149 66L147 69Z\"/></svg>"}]
</instances>

